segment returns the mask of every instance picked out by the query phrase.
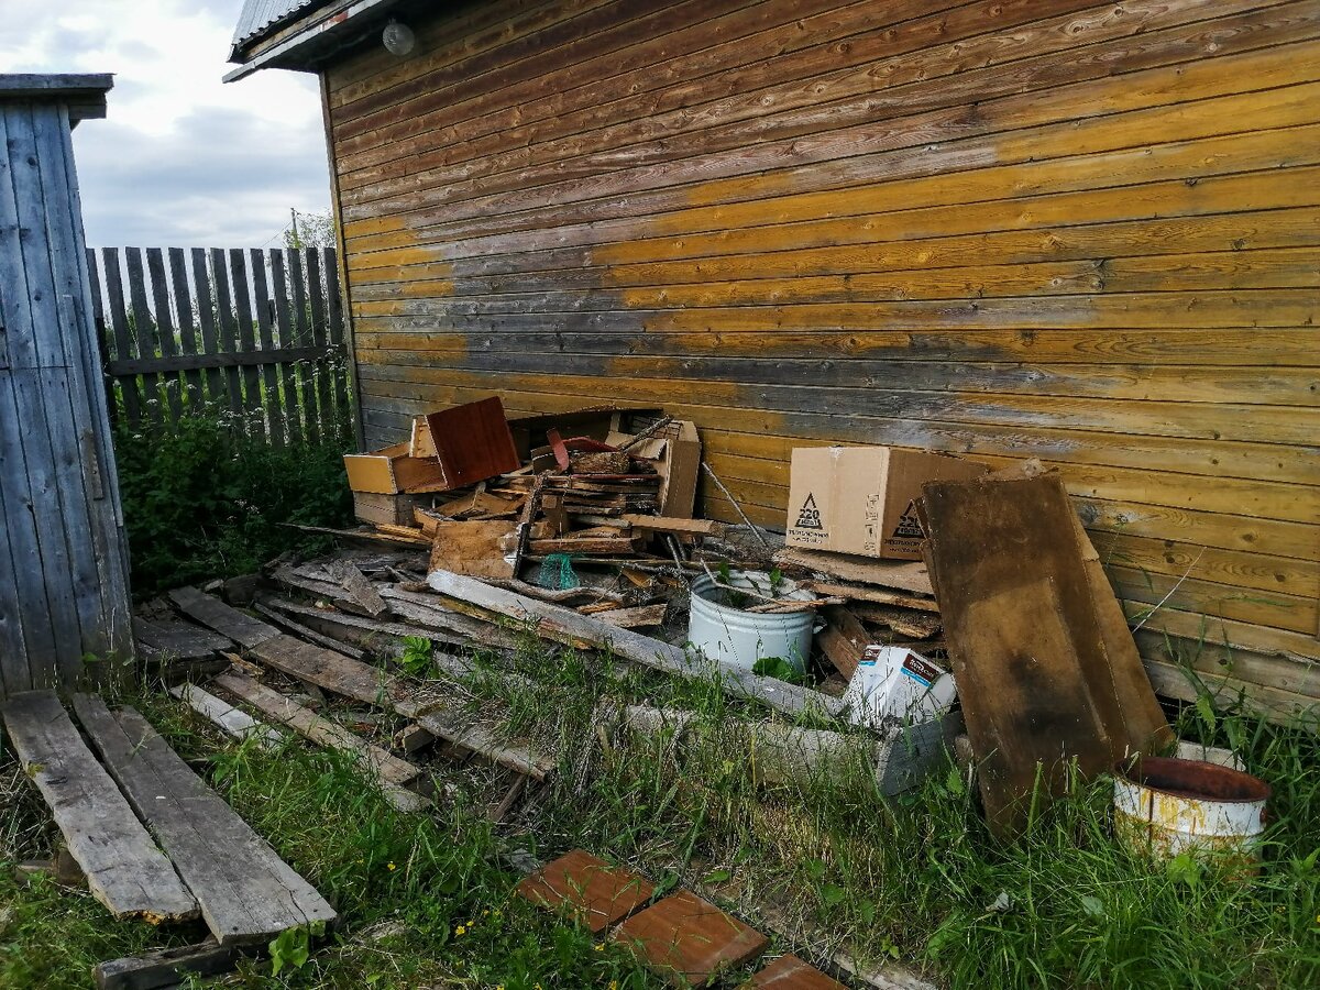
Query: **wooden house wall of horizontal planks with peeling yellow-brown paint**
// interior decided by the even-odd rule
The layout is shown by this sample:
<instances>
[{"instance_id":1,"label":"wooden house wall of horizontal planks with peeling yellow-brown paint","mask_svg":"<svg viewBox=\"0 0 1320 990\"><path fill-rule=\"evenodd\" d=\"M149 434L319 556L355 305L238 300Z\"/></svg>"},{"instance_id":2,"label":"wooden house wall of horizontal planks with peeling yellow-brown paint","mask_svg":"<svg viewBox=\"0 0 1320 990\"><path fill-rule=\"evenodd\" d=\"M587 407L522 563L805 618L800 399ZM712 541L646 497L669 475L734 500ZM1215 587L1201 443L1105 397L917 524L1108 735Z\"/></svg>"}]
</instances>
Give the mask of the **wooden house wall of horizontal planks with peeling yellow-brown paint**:
<instances>
[{"instance_id":1,"label":"wooden house wall of horizontal planks with peeling yellow-brown paint","mask_svg":"<svg viewBox=\"0 0 1320 990\"><path fill-rule=\"evenodd\" d=\"M1039 457L1164 690L1320 697L1320 3L446 9L323 75L370 444L659 403L780 528L795 446Z\"/></svg>"}]
</instances>

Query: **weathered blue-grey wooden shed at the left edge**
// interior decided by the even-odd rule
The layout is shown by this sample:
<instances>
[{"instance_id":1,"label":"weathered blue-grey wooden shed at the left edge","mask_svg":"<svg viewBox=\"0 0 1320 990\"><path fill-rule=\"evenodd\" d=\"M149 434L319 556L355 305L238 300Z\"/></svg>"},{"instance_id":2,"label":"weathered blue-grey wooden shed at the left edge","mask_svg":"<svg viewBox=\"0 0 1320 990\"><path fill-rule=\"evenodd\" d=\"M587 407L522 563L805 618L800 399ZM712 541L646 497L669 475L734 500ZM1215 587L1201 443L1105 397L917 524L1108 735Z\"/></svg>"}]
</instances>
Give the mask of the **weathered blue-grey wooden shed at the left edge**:
<instances>
[{"instance_id":1,"label":"weathered blue-grey wooden shed at the left edge","mask_svg":"<svg viewBox=\"0 0 1320 990\"><path fill-rule=\"evenodd\" d=\"M106 115L112 84L0 74L0 697L104 680L132 659L70 135Z\"/></svg>"}]
</instances>

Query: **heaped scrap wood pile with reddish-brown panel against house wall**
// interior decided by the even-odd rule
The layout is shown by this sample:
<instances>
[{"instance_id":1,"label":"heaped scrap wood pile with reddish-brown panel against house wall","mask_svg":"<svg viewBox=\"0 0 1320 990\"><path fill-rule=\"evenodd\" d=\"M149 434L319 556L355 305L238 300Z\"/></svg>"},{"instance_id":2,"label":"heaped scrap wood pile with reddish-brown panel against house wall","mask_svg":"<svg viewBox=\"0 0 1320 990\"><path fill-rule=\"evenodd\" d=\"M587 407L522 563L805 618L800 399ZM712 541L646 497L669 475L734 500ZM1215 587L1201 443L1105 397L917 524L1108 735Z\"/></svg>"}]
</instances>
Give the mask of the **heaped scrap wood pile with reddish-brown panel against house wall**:
<instances>
[{"instance_id":1,"label":"heaped scrap wood pile with reddish-brown panel against house wall","mask_svg":"<svg viewBox=\"0 0 1320 990\"><path fill-rule=\"evenodd\" d=\"M701 441L659 409L597 408L508 420L498 397L416 417L407 441L345 458L358 519L346 532L430 550L433 568L553 591L585 587L586 607L649 607L656 574L694 569ZM634 587L590 594L578 569L626 565ZM607 609L612 603L614 609Z\"/></svg>"}]
</instances>

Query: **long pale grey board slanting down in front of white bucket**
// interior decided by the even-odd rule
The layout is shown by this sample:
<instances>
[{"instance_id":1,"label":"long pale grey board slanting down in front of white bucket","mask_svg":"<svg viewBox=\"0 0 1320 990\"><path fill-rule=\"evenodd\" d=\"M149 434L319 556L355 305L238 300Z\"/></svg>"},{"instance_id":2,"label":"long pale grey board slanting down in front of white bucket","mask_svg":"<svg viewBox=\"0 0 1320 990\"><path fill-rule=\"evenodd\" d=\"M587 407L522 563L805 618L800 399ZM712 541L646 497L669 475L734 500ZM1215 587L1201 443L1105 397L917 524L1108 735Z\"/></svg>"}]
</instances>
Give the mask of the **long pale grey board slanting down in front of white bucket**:
<instances>
[{"instance_id":1,"label":"long pale grey board slanting down in front of white bucket","mask_svg":"<svg viewBox=\"0 0 1320 990\"><path fill-rule=\"evenodd\" d=\"M689 659L678 647L659 639L651 639L631 630L615 628L594 616L579 615L572 609L539 602L502 587L491 587L480 581L447 570L430 572L426 583L434 591L445 595L446 601L467 602L494 615L533 623L536 634L545 639L573 645L607 648L624 660L680 677L718 673L730 690L788 714L814 709L822 714L833 715L841 708L836 698L820 692L799 688L774 677L763 677L730 664L700 657Z\"/></svg>"}]
</instances>

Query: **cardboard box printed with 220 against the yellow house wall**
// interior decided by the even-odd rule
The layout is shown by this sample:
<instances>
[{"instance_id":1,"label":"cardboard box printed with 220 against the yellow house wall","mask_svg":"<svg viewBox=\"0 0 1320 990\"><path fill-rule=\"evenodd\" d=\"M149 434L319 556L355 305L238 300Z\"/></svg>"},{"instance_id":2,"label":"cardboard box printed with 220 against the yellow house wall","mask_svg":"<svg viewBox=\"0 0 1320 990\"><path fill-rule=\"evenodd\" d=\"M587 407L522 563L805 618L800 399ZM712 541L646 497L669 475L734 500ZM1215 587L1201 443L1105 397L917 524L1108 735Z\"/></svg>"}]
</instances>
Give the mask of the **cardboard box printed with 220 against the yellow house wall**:
<instances>
[{"instance_id":1,"label":"cardboard box printed with 220 against the yellow house wall","mask_svg":"<svg viewBox=\"0 0 1320 990\"><path fill-rule=\"evenodd\" d=\"M894 447L797 447L788 491L789 546L920 560L916 502L929 480L968 480L989 469L948 454Z\"/></svg>"}]
</instances>

